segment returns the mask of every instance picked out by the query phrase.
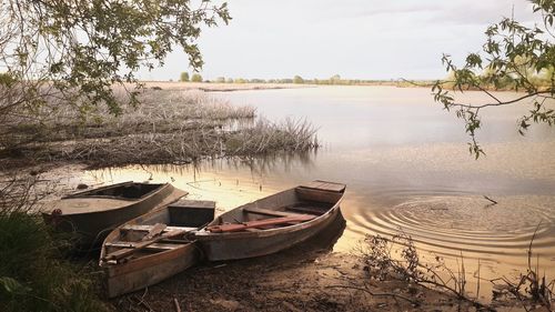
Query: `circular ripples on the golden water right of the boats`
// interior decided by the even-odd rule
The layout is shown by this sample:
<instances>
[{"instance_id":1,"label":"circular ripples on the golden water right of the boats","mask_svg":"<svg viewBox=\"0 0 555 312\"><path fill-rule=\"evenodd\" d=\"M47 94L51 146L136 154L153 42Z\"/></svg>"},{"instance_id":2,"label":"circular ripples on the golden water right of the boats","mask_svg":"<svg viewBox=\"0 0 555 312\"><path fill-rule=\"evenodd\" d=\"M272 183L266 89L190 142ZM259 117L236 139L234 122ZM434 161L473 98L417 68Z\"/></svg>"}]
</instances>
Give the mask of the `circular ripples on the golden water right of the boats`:
<instances>
[{"instance_id":1,"label":"circular ripples on the golden water right of the boats","mask_svg":"<svg viewBox=\"0 0 555 312\"><path fill-rule=\"evenodd\" d=\"M482 197L415 197L392 208L362 212L352 221L377 234L402 231L438 254L464 251L471 258L522 258L537 228L534 252L555 256L555 198L495 200L498 204L492 205Z\"/></svg>"}]
</instances>

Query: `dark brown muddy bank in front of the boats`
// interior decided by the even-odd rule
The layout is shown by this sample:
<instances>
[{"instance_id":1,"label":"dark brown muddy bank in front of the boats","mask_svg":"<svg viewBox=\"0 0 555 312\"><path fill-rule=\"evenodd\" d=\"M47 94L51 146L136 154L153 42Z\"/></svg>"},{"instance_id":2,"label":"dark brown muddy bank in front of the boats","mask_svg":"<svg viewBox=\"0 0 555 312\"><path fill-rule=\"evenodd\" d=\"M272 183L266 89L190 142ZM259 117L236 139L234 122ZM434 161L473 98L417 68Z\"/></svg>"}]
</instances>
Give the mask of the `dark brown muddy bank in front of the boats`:
<instances>
[{"instance_id":1,"label":"dark brown muddy bank in front of the boats","mask_svg":"<svg viewBox=\"0 0 555 312\"><path fill-rule=\"evenodd\" d=\"M306 254L305 254L306 255ZM403 281L371 280L357 259L291 251L192 268L111 301L119 311L458 311L466 303ZM373 294L371 294L373 293Z\"/></svg>"}]
</instances>

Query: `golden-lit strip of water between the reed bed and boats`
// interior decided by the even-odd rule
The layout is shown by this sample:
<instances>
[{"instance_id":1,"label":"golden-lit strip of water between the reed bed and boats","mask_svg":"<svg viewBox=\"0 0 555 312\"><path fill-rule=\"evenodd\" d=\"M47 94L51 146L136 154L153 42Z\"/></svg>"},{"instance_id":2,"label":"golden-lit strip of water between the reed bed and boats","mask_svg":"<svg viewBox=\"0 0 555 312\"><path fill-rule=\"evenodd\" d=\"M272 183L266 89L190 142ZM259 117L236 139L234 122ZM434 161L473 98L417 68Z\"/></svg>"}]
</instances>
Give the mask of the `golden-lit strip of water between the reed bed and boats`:
<instances>
[{"instance_id":1,"label":"golden-lit strip of water between the reed bed and boats","mask_svg":"<svg viewBox=\"0 0 555 312\"><path fill-rule=\"evenodd\" d=\"M189 192L191 199L216 201L218 211L268 197L291 188L289 173L314 167L316 152L280 154L251 159L213 159L193 164L129 165L88 171L89 182L170 182ZM281 178L272 172L282 172ZM290 180L290 181L287 181ZM301 180L299 180L301 182Z\"/></svg>"}]
</instances>

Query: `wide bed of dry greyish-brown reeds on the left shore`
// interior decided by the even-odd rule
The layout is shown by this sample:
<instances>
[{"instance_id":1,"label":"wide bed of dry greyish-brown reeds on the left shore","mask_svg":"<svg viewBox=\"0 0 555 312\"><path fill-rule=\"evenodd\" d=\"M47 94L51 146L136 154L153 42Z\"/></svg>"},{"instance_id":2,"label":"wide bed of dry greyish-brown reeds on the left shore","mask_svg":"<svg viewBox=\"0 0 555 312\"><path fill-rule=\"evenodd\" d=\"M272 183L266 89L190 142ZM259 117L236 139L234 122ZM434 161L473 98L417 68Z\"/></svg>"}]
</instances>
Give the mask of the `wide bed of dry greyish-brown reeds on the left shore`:
<instances>
[{"instance_id":1,"label":"wide bed of dry greyish-brown reeds on the left shore","mask_svg":"<svg viewBox=\"0 0 555 312\"><path fill-rule=\"evenodd\" d=\"M117 90L121 102L128 93ZM95 167L188 163L204 157L252 157L317 148L306 121L255 119L252 107L235 107L202 91L152 90L121 115L102 108L79 109L48 99L37 118L16 119L3 157L38 161L78 160ZM10 152L6 152L9 150ZM14 152L16 151L16 152ZM0 145L1 152L1 145Z\"/></svg>"}]
</instances>

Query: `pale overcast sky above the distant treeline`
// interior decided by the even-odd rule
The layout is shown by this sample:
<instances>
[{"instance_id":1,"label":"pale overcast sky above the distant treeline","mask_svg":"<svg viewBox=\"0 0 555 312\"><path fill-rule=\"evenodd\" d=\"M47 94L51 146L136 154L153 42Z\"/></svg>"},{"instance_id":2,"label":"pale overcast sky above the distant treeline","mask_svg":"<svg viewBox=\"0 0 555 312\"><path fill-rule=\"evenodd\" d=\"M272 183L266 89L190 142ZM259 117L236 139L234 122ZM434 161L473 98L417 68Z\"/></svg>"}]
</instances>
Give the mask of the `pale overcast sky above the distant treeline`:
<instances>
[{"instance_id":1,"label":"pale overcast sky above the distant treeline","mask_svg":"<svg viewBox=\"0 0 555 312\"><path fill-rule=\"evenodd\" d=\"M221 3L223 1L213 1ZM511 17L539 21L525 0L230 0L229 26L204 28L204 79L440 79L441 58L478 52L487 26ZM175 49L142 80L191 72Z\"/></svg>"}]
</instances>

